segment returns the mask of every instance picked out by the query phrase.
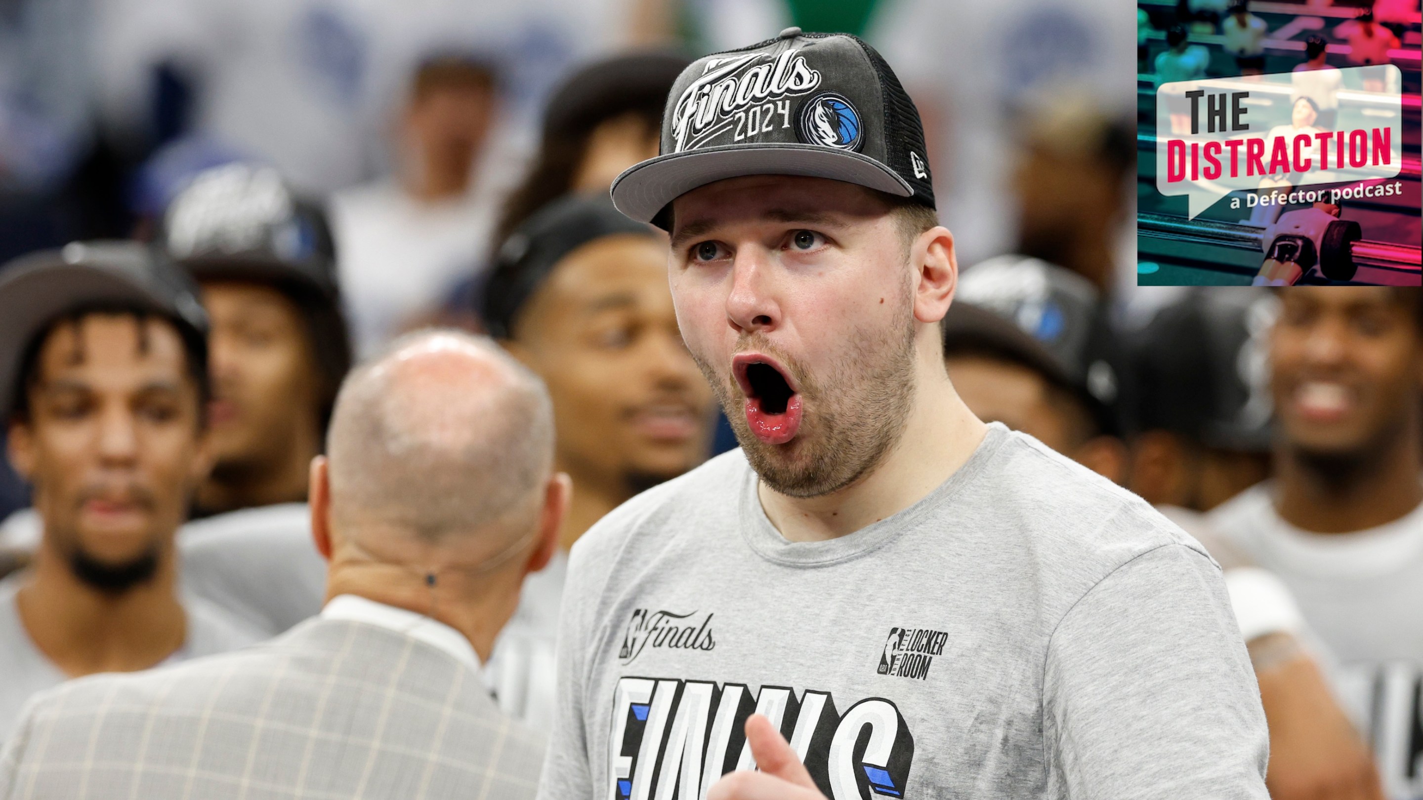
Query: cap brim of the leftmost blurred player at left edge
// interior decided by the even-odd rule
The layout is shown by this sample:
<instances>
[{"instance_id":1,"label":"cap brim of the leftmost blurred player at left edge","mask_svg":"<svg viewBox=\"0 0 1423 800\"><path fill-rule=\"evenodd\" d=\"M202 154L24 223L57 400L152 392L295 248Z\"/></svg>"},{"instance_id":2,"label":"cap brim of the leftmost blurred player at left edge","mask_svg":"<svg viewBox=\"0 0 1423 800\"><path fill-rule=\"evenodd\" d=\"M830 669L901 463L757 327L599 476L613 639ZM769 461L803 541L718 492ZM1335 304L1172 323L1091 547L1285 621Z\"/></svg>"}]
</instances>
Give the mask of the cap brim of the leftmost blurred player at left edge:
<instances>
[{"instance_id":1,"label":"cap brim of the leftmost blurred player at left edge","mask_svg":"<svg viewBox=\"0 0 1423 800\"><path fill-rule=\"evenodd\" d=\"M21 266L0 279L0 414L10 416L20 359L40 326L65 310L94 303L131 303L171 313L145 286L92 266Z\"/></svg>"}]
</instances>

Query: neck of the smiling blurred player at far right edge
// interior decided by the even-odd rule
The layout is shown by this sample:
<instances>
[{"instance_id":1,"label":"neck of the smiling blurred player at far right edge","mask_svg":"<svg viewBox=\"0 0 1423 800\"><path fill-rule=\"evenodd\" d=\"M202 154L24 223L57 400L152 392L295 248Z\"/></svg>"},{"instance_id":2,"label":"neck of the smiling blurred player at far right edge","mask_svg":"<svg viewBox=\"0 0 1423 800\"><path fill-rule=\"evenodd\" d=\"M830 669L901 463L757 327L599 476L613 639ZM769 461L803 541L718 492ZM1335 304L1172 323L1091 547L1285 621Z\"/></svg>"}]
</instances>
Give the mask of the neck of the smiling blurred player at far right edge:
<instances>
[{"instance_id":1,"label":"neck of the smiling blurred player at far right edge","mask_svg":"<svg viewBox=\"0 0 1423 800\"><path fill-rule=\"evenodd\" d=\"M1305 531L1348 534L1386 525L1423 502L1416 424L1376 450L1321 458L1282 446L1275 457L1275 508Z\"/></svg>"}]
</instances>

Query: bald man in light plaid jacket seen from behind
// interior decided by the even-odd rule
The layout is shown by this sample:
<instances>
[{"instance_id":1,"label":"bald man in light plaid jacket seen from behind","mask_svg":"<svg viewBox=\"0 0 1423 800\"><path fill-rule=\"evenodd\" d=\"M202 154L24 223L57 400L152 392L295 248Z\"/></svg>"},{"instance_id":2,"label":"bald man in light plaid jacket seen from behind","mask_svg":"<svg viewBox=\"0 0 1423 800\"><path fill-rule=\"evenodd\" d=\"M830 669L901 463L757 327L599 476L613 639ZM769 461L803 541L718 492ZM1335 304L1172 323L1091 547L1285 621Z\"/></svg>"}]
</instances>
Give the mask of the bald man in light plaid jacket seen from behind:
<instances>
[{"instance_id":1,"label":"bald man in light plaid jacket seen from behind","mask_svg":"<svg viewBox=\"0 0 1423 800\"><path fill-rule=\"evenodd\" d=\"M320 616L37 696L0 797L534 796L542 739L499 712L480 662L568 505L548 393L488 339L414 335L343 384L327 451Z\"/></svg>"}]
</instances>

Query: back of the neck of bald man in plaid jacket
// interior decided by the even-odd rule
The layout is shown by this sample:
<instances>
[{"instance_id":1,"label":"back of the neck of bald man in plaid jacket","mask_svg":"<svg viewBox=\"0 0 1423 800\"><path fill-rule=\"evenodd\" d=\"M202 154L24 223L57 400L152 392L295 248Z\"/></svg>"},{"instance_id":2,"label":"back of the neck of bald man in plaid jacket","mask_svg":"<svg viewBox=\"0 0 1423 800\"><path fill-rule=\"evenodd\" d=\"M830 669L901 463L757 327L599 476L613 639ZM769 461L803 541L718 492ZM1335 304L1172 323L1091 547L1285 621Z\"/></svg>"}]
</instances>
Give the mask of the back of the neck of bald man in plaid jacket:
<instances>
[{"instance_id":1,"label":"back of the neck of bald man in plaid jacket","mask_svg":"<svg viewBox=\"0 0 1423 800\"><path fill-rule=\"evenodd\" d=\"M521 579L502 571L470 581L441 574L434 588L411 569L390 564L332 565L326 599L356 595L444 622L470 641L481 663L488 663L494 639L514 616Z\"/></svg>"}]
</instances>

